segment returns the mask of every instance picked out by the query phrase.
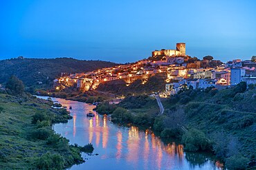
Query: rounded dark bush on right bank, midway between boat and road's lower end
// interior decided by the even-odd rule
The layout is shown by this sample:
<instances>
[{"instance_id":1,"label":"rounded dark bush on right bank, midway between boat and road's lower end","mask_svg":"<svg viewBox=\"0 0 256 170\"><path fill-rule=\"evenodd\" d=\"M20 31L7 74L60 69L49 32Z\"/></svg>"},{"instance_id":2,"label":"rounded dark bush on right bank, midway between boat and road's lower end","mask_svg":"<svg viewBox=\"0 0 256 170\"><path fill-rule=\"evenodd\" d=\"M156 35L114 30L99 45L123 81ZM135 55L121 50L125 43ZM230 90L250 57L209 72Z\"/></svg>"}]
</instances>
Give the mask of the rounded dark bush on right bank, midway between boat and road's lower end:
<instances>
[{"instance_id":1,"label":"rounded dark bush on right bank, midway between boat and road's lower end","mask_svg":"<svg viewBox=\"0 0 256 170\"><path fill-rule=\"evenodd\" d=\"M113 111L111 118L112 118L111 120L113 122L118 122L118 123L131 123L132 122L131 113L129 113L127 111L127 109L124 109L122 107L116 108L116 110Z\"/></svg>"}]
</instances>

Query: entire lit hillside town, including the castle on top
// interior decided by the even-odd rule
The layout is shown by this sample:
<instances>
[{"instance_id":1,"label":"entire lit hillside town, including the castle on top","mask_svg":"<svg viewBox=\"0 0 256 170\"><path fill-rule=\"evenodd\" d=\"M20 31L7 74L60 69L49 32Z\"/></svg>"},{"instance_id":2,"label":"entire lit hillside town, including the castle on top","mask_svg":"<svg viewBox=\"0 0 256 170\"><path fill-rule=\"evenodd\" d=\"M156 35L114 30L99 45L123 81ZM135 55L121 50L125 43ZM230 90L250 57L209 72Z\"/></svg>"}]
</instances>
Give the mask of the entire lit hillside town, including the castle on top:
<instances>
[{"instance_id":1,"label":"entire lit hillside town, including the castle on top","mask_svg":"<svg viewBox=\"0 0 256 170\"><path fill-rule=\"evenodd\" d=\"M185 43L176 43L176 50L155 50L148 59L136 63L107 67L93 72L65 74L54 80L56 90L77 87L81 91L97 89L100 83L124 80L129 86L137 79L146 83L150 76L165 73L165 92L161 97L177 94L183 88L215 87L225 89L245 81L256 83L255 60L234 59L226 63L205 56L202 60L185 54Z\"/></svg>"}]
</instances>

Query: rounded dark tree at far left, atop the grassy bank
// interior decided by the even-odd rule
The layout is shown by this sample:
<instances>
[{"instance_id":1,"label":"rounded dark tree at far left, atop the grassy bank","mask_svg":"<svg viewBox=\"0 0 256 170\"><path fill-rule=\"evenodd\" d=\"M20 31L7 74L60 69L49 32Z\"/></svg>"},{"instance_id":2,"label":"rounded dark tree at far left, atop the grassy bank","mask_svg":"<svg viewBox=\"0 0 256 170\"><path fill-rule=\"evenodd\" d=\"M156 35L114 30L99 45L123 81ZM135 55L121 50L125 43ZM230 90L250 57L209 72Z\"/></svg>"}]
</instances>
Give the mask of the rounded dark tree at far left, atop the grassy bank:
<instances>
[{"instance_id":1,"label":"rounded dark tree at far left, atop the grassy bank","mask_svg":"<svg viewBox=\"0 0 256 170\"><path fill-rule=\"evenodd\" d=\"M10 89L12 94L23 94L24 92L24 85L19 78L16 76L11 76L6 83L6 89Z\"/></svg>"}]
</instances>

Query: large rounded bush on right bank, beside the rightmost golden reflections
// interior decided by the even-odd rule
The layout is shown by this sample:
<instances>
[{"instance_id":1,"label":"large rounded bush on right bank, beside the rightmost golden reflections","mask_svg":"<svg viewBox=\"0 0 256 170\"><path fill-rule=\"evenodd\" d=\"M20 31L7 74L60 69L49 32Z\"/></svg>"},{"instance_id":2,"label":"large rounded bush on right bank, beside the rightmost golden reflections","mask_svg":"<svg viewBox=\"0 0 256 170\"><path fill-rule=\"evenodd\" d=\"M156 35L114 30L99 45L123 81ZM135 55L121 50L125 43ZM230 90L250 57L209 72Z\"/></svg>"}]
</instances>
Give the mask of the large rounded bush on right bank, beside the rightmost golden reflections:
<instances>
[{"instance_id":1,"label":"large rounded bush on right bank, beside the rightmost golden reflections","mask_svg":"<svg viewBox=\"0 0 256 170\"><path fill-rule=\"evenodd\" d=\"M202 131L190 129L183 134L181 142L187 151L204 151L210 149L210 140L206 138Z\"/></svg>"}]
</instances>

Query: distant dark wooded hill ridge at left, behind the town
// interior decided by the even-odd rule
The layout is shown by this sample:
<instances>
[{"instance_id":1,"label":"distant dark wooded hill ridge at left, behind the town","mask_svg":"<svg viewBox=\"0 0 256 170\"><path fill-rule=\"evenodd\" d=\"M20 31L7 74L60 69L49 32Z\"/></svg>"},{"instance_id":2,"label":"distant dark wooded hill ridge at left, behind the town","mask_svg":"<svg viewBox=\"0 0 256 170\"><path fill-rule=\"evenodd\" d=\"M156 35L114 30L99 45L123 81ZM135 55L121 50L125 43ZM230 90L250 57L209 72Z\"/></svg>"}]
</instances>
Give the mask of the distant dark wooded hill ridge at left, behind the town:
<instances>
[{"instance_id":1,"label":"distant dark wooded hill ridge at left, behind the town","mask_svg":"<svg viewBox=\"0 0 256 170\"><path fill-rule=\"evenodd\" d=\"M38 85L49 87L62 72L80 73L118 65L109 61L86 61L73 58L27 59L18 57L0 61L0 83L6 83L12 75L17 76L27 87Z\"/></svg>"}]
</instances>

